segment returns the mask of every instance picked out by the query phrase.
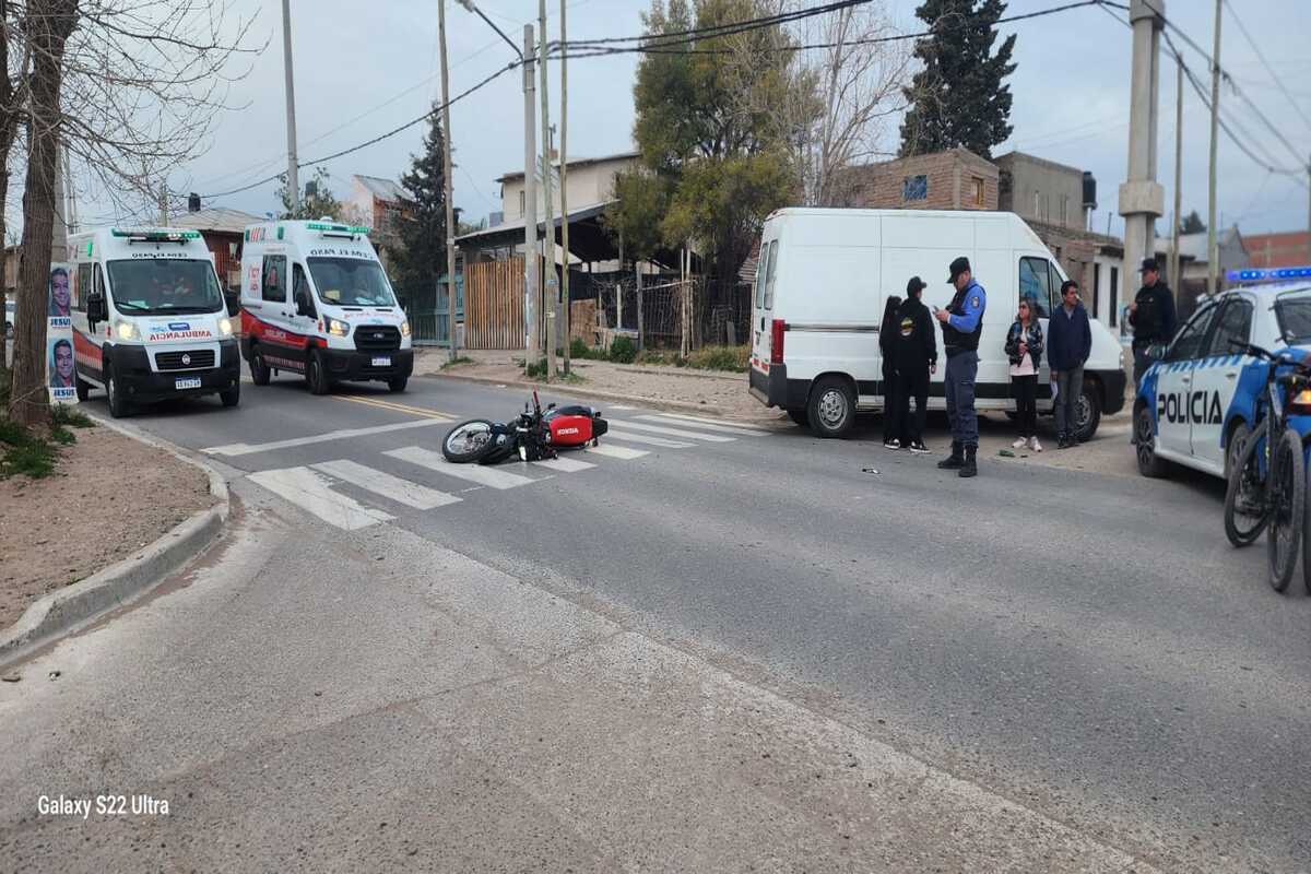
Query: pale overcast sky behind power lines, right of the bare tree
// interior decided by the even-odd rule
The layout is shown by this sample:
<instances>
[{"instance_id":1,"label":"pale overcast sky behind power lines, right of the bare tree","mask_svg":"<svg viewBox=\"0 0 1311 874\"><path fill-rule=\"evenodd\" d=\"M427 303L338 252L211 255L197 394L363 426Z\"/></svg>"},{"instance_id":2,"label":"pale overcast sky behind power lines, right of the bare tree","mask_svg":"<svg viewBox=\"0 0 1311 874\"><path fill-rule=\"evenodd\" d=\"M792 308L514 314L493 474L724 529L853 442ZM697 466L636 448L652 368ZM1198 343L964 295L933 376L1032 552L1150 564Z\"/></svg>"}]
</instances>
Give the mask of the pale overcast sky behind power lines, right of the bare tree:
<instances>
[{"instance_id":1,"label":"pale overcast sky behind power lines, right of the bare tree","mask_svg":"<svg viewBox=\"0 0 1311 874\"><path fill-rule=\"evenodd\" d=\"M572 38L599 38L640 33L640 10L649 0L568 0ZM818 3L818 0L815 0ZM876 0L876 3L880 0ZM1167 0L1167 12L1198 45L1210 50L1214 7L1203 0ZM477 0L479 7L515 41L523 24L536 13L536 0ZM1311 155L1311 55L1306 52L1311 20L1306 0L1242 0L1243 25L1262 47L1265 60L1293 92L1297 105L1273 84L1260 56L1226 12L1222 66L1235 76L1268 118L1281 127L1298 149L1301 164ZM273 0L237 0L235 10L257 14L258 42L269 48L254 60L250 75L239 83L231 102L243 106L224 114L212 148L202 159L177 168L170 186L178 191L216 194L257 181L286 166L282 24ZM558 0L548 0L551 37L557 34ZM898 26L918 30L918 0L886 0ZM1009 14L1061 5L1059 0L1011 0ZM434 0L291 0L296 73L296 124L300 157L312 160L347 148L421 115L439 94L437 62L437 3ZM1122 16L1122 13L1121 13ZM1105 10L1088 7L1033 21L1017 22L1004 33L1019 34L1009 79L1015 96L1011 143L1013 148L1082 169L1097 178L1100 208L1095 228L1106 229L1114 211L1116 190L1124 180L1127 152L1130 31ZM451 56L451 93L477 83L502 67L510 47L476 16L448 0L447 35ZM1176 39L1183 47L1183 43ZM1205 76L1205 60L1184 48L1189 67ZM632 55L579 59L570 64L569 153L574 157L624 151L632 144ZM552 66L551 101L558 118L558 67ZM1209 84L1209 83L1207 83ZM1175 64L1162 64L1162 124L1159 178L1172 203L1175 151ZM1234 130L1262 147L1280 166L1295 166L1294 155L1265 131L1256 115L1231 92L1222 106ZM471 220L499 210L496 177L522 169L523 98L518 71L456 104L452 142L458 169L456 204ZM328 164L333 187L343 195L353 173L397 178L418 148L423 126ZM1206 216L1206 162L1209 121L1201 101L1188 90L1184 101L1184 212ZM886 147L895 148L897 128L889 128ZM307 172L302 172L304 181ZM274 185L206 200L254 214L275 208ZM1307 223L1307 189L1297 181L1272 176L1256 166L1222 134L1219 149L1219 210L1223 223L1238 223L1247 233L1298 229ZM81 206L88 219L113 220L106 207ZM1164 231L1167 225L1160 225ZM1112 218L1112 231L1122 221Z\"/></svg>"}]
</instances>

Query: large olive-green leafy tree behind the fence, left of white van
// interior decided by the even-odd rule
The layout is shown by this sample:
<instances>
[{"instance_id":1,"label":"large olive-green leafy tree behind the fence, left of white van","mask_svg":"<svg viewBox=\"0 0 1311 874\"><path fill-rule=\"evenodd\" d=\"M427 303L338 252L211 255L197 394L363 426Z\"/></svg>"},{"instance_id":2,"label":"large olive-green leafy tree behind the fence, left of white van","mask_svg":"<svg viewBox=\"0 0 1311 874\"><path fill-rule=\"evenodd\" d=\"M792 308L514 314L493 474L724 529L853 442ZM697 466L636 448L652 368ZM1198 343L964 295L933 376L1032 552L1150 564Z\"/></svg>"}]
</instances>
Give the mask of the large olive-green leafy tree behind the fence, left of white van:
<instances>
[{"instance_id":1,"label":"large olive-green leafy tree behind the fence, left of white van","mask_svg":"<svg viewBox=\"0 0 1311 874\"><path fill-rule=\"evenodd\" d=\"M607 215L625 254L695 240L718 276L737 274L764 218L794 199L787 130L771 107L798 86L789 37L762 28L687 42L673 35L773 12L770 0L652 0L637 66L633 138L641 169L616 182ZM663 37L670 34L669 37ZM657 233L658 231L658 233Z\"/></svg>"}]
</instances>

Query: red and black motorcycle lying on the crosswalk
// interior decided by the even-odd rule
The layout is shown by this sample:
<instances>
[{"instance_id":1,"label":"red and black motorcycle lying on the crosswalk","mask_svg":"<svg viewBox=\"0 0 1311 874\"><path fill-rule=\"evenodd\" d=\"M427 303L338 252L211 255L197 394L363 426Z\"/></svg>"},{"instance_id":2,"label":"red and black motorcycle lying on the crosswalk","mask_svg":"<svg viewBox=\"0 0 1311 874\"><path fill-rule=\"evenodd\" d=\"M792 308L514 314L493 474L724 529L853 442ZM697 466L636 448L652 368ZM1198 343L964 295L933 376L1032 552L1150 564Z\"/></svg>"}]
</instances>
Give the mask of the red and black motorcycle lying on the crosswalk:
<instances>
[{"instance_id":1,"label":"red and black motorcycle lying on the crosswalk","mask_svg":"<svg viewBox=\"0 0 1311 874\"><path fill-rule=\"evenodd\" d=\"M556 457L556 449L578 448L610 430L600 411L590 406L555 404L541 409L538 393L524 402L523 413L510 422L469 419L460 422L442 440L442 455L452 464L499 464L511 456L520 461Z\"/></svg>"}]
</instances>

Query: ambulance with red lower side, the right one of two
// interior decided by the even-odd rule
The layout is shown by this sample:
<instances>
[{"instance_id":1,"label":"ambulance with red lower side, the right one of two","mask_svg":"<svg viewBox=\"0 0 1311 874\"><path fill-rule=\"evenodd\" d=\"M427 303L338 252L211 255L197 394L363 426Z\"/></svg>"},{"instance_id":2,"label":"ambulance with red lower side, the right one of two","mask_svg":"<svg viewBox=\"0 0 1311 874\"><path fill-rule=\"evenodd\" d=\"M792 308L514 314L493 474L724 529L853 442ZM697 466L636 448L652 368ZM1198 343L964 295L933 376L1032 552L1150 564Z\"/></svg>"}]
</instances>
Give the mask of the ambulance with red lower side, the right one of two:
<instances>
[{"instance_id":1,"label":"ambulance with red lower side, the right one of two","mask_svg":"<svg viewBox=\"0 0 1311 874\"><path fill-rule=\"evenodd\" d=\"M405 390L410 328L368 228L328 219L252 224L241 278L241 354L256 385L291 371L315 394L343 380Z\"/></svg>"}]
</instances>

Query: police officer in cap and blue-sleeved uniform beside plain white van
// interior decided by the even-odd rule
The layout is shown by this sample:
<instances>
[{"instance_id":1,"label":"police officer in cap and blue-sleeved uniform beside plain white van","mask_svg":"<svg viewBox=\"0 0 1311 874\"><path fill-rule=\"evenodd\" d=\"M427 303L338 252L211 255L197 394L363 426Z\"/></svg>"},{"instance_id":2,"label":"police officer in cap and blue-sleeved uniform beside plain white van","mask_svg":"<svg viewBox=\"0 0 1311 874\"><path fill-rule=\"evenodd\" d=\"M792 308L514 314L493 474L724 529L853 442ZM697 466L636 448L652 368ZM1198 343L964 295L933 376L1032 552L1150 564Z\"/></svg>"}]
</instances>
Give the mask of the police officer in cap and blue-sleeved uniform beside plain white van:
<instances>
[{"instance_id":1,"label":"police officer in cap and blue-sleeved uniform beside plain white van","mask_svg":"<svg viewBox=\"0 0 1311 874\"><path fill-rule=\"evenodd\" d=\"M952 422L952 455L937 463L944 470L958 470L961 477L978 476L979 421L974 411L974 380L979 371L979 334L983 333L983 311L987 294L974 282L969 258L952 262L947 280L956 296L947 309L933 312L943 324L943 346L947 347L947 417Z\"/></svg>"}]
</instances>

